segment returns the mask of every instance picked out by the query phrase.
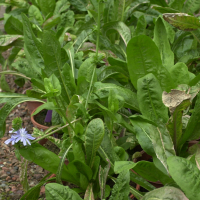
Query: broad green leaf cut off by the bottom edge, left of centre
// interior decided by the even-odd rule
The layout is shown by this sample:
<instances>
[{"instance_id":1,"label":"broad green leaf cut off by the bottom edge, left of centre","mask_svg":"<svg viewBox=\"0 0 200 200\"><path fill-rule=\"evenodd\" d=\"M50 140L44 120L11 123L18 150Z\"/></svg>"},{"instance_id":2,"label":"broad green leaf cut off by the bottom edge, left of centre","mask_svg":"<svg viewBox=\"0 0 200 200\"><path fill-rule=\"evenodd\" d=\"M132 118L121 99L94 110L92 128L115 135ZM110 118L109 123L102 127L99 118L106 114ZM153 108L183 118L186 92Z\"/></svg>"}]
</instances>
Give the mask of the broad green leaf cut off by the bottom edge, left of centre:
<instances>
[{"instance_id":1,"label":"broad green leaf cut off by the bottom edge, left of centre","mask_svg":"<svg viewBox=\"0 0 200 200\"><path fill-rule=\"evenodd\" d=\"M57 183L48 183L45 186L45 195L47 200L82 200L82 198L68 186Z\"/></svg>"}]
</instances>

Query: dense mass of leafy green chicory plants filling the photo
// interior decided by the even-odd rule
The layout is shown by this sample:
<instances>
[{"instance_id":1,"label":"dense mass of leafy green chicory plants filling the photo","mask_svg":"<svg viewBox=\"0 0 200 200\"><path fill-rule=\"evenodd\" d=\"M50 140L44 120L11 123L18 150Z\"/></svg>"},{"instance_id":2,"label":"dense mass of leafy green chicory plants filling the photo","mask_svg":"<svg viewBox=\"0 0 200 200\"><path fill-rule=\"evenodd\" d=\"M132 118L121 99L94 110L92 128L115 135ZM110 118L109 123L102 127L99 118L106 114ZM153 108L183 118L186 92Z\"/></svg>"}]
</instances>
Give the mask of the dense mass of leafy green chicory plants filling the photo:
<instances>
[{"instance_id":1,"label":"dense mass of leafy green chicory plants filling the photo","mask_svg":"<svg viewBox=\"0 0 200 200\"><path fill-rule=\"evenodd\" d=\"M30 136L16 118L6 141L15 145L17 158L56 174L50 179L56 183L45 177L21 199L38 199L45 183L47 200L200 198L198 141L188 148L200 137L200 5L167 2L1 2L9 5L1 51L13 51L2 60L2 77L14 74L22 84L31 81L32 89L0 93L0 136L21 102L43 103L33 115L52 110L48 130L34 128ZM21 28L12 32L6 24ZM60 130L62 138L54 138ZM43 138L60 153L37 143ZM141 160L142 150L151 159ZM157 181L159 189L151 184Z\"/></svg>"}]
</instances>

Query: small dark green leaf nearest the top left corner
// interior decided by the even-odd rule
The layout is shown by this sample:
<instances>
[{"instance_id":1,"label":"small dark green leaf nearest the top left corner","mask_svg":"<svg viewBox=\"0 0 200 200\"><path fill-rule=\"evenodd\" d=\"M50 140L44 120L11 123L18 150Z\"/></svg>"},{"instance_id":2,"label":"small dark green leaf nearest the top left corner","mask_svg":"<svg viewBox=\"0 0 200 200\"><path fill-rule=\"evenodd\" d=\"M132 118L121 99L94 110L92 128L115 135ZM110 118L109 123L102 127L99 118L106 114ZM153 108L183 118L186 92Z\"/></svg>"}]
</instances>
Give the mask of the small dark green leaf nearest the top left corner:
<instances>
[{"instance_id":1,"label":"small dark green leaf nearest the top left corner","mask_svg":"<svg viewBox=\"0 0 200 200\"><path fill-rule=\"evenodd\" d=\"M6 20L4 28L7 34L23 35L23 24L12 15Z\"/></svg>"}]
</instances>

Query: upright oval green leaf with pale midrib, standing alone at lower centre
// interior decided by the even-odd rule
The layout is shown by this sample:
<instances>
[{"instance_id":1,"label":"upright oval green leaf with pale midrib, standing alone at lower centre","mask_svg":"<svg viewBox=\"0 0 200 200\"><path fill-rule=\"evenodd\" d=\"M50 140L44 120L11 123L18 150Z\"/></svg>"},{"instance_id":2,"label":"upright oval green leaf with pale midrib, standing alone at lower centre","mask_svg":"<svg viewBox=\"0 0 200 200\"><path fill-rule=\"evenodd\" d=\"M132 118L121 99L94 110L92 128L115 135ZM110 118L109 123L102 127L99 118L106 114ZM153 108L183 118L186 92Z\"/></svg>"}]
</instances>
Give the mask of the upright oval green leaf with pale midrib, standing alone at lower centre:
<instances>
[{"instance_id":1,"label":"upright oval green leaf with pale midrib, standing alone at lower centre","mask_svg":"<svg viewBox=\"0 0 200 200\"><path fill-rule=\"evenodd\" d=\"M94 164L96 151L104 137L104 124L101 119L93 119L87 126L85 133L85 151L87 163L90 167Z\"/></svg>"}]
</instances>

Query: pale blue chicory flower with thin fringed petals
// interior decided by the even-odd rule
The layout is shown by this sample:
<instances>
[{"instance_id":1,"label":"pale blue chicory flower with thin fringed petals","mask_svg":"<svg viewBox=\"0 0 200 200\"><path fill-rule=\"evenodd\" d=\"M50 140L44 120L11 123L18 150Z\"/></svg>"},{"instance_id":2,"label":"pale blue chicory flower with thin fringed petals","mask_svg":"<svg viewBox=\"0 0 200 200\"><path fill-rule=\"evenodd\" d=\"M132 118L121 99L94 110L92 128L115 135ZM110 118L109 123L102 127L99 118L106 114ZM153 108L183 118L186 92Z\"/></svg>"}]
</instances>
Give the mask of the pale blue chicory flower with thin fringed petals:
<instances>
[{"instance_id":1,"label":"pale blue chicory flower with thin fringed petals","mask_svg":"<svg viewBox=\"0 0 200 200\"><path fill-rule=\"evenodd\" d=\"M12 135L10 139L5 141L5 144L9 144L12 142L12 145L21 141L23 145L26 146L27 144L31 145L29 140L34 140L35 138L32 137L30 134L27 133L26 128L20 128L18 131L14 132L15 135Z\"/></svg>"}]
</instances>

